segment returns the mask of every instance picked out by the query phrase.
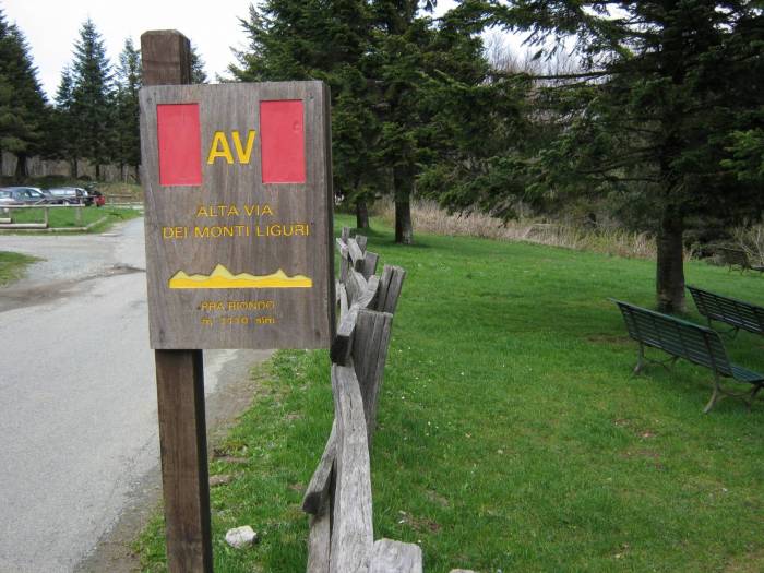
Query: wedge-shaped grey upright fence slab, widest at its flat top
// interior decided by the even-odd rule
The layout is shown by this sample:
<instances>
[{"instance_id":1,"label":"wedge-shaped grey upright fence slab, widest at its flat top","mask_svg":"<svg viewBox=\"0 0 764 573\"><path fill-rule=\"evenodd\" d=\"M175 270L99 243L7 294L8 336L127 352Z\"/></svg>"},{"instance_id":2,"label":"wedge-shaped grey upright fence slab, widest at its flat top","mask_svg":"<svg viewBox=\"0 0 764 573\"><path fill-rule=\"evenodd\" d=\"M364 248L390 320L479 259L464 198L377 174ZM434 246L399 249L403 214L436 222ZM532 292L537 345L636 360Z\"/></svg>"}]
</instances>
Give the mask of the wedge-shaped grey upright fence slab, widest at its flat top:
<instances>
[{"instance_id":1,"label":"wedge-shaped grey upright fence slab, widest at its flat top","mask_svg":"<svg viewBox=\"0 0 764 573\"><path fill-rule=\"evenodd\" d=\"M353 339L353 363L363 399L369 451L377 427L377 408L382 375L387 359L393 315L387 312L360 310Z\"/></svg>"}]
</instances>

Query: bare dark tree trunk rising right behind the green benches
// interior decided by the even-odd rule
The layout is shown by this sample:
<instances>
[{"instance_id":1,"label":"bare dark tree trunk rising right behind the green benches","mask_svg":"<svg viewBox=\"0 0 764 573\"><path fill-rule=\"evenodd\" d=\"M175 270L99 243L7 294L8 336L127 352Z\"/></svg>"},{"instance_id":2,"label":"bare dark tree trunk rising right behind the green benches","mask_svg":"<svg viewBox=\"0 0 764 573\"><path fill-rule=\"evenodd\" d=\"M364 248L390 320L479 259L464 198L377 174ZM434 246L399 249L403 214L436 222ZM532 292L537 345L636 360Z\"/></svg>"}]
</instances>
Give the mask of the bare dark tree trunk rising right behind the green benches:
<instances>
[{"instance_id":1,"label":"bare dark tree trunk rising right behind the green benches","mask_svg":"<svg viewBox=\"0 0 764 573\"><path fill-rule=\"evenodd\" d=\"M684 220L676 208L667 207L658 230L656 290L660 312L684 310Z\"/></svg>"}]
</instances>

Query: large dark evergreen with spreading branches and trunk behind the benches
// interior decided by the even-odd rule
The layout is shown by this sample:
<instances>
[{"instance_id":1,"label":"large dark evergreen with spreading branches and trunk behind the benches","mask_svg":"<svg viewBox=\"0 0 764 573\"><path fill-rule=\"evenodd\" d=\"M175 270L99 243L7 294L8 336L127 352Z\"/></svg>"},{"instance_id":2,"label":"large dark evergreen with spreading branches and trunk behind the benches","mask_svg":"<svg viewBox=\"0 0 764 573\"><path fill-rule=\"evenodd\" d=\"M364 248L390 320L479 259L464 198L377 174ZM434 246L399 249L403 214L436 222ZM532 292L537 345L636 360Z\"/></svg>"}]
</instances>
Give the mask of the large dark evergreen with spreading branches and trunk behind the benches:
<instances>
[{"instance_id":1,"label":"large dark evergreen with spreading branches and trunk behind the benches","mask_svg":"<svg viewBox=\"0 0 764 573\"><path fill-rule=\"evenodd\" d=\"M680 311L688 222L761 213L761 190L736 163L748 165L764 119L757 3L488 3L491 23L529 32L540 55L570 39L582 62L580 73L537 77L553 82L539 89L550 103L539 112L562 128L530 166L537 189L585 184L640 201L656 222L658 307Z\"/></svg>"}]
</instances>

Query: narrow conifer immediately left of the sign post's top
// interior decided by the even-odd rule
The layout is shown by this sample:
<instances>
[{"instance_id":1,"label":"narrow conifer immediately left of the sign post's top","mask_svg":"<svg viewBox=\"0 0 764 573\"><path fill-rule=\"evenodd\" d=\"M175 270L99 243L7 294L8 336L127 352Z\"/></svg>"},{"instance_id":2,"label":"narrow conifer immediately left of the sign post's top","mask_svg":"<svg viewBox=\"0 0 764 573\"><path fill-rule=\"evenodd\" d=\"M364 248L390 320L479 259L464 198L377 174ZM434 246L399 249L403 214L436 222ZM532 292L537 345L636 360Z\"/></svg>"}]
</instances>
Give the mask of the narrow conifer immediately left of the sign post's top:
<instances>
[{"instance_id":1,"label":"narrow conifer immediately left of the sign post's top","mask_svg":"<svg viewBox=\"0 0 764 573\"><path fill-rule=\"evenodd\" d=\"M124 40L116 71L116 159L120 167L141 163L140 107L141 52L132 38Z\"/></svg>"}]
</instances>

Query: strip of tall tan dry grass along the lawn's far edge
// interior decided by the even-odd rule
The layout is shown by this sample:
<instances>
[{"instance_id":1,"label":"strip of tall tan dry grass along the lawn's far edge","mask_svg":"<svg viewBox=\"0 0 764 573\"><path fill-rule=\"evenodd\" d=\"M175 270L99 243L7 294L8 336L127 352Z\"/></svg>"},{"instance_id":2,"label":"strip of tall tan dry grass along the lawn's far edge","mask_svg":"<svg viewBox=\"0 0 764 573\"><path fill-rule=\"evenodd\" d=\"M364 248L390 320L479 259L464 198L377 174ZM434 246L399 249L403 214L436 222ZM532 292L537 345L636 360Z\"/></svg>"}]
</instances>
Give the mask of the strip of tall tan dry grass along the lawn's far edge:
<instances>
[{"instance_id":1,"label":"strip of tall tan dry grass along the lawn's far edge","mask_svg":"<svg viewBox=\"0 0 764 573\"><path fill-rule=\"evenodd\" d=\"M393 225L395 207L392 202L380 202L374 215ZM655 238L645 232L630 232L618 228L589 229L558 223L542 223L522 217L505 224L481 213L449 215L432 201L411 203L415 232L480 237L503 241L527 241L580 251L593 251L616 256L652 259L656 256ZM687 254L690 256L690 253Z\"/></svg>"}]
</instances>

